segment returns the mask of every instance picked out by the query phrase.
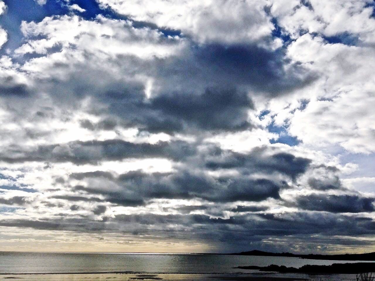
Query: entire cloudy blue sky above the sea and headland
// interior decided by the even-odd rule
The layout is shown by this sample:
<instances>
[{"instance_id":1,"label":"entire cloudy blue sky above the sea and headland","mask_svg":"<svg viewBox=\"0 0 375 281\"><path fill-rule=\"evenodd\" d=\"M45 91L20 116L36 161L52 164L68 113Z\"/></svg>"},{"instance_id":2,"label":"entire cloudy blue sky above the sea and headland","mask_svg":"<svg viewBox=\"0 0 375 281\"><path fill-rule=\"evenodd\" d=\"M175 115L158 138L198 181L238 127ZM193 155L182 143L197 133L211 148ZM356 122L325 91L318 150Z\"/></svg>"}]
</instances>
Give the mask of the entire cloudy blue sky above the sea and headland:
<instances>
[{"instance_id":1,"label":"entire cloudy blue sky above the sea and headland","mask_svg":"<svg viewBox=\"0 0 375 281\"><path fill-rule=\"evenodd\" d=\"M375 251L373 0L0 0L3 251Z\"/></svg>"}]
</instances>

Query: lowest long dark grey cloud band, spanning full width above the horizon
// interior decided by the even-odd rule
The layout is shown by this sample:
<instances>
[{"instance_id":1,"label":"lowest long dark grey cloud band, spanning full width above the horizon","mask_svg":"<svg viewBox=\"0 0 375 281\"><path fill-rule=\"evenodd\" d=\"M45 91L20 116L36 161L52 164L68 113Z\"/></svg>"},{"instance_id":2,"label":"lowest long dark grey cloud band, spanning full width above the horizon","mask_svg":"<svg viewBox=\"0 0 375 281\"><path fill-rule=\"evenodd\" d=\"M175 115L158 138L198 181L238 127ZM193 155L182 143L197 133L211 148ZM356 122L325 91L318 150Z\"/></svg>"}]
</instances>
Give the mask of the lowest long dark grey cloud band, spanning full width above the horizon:
<instances>
[{"instance_id":1,"label":"lowest long dark grey cloud band, spanning full width above the horizon","mask_svg":"<svg viewBox=\"0 0 375 281\"><path fill-rule=\"evenodd\" d=\"M104 209L104 208L103 208ZM102 210L100 211L102 213ZM62 214L61 218L49 220L2 220L0 226L31 227L34 229L50 230L74 230L77 232L99 232L105 234L113 230L132 235L149 234L163 236L165 239L174 238L186 240L191 235L198 241L209 242L212 245L219 243L223 250L228 247L229 252L234 249L243 249L244 244L258 245L263 250L274 249L273 244L263 244L263 239L282 240L281 236L288 239L299 240L306 243L306 238L312 244L329 243L330 236L338 235L374 235L375 224L371 218L350 217L346 215L322 213L322 212L295 212L291 214L258 214L236 215L229 218L212 218L208 215L156 215L156 214L132 214L115 215L106 220L89 220L88 218L69 218ZM181 231L178 228L168 226L182 226L189 231ZM150 229L150 226L153 226ZM288 226L288 227L285 227ZM327 227L329 226L329 227ZM315 240L315 241L314 241ZM295 241L295 242L296 242ZM366 245L357 241L351 243L348 239L335 237L335 244L342 245ZM264 248L266 247L266 248ZM285 244L275 245L285 247Z\"/></svg>"}]
</instances>

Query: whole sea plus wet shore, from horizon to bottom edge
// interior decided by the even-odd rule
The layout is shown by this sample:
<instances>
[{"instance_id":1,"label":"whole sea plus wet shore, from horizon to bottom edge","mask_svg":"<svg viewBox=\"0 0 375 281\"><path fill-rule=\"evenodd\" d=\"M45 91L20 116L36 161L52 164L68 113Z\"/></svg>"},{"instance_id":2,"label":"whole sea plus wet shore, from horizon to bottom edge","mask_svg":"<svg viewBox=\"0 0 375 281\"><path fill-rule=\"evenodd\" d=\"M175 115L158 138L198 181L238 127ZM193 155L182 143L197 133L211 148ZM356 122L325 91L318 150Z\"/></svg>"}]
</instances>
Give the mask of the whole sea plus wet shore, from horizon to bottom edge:
<instances>
[{"instance_id":1,"label":"whole sea plus wet shore, from horizon to bottom edge","mask_svg":"<svg viewBox=\"0 0 375 281\"><path fill-rule=\"evenodd\" d=\"M0 252L0 280L351 281L356 280L355 275L278 274L235 267L274 264L299 268L303 265L355 262L362 261L178 253Z\"/></svg>"}]
</instances>

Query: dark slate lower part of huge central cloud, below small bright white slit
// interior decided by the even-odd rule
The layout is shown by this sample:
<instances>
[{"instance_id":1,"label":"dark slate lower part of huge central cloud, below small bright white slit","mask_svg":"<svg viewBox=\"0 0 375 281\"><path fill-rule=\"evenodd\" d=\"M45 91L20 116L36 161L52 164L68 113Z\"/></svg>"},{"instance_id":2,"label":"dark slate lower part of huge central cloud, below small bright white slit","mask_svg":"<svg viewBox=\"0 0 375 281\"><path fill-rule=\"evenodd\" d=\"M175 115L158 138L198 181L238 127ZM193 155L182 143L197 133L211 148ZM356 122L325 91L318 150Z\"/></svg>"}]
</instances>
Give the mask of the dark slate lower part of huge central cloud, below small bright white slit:
<instances>
[{"instance_id":1,"label":"dark slate lower part of huge central cloud, below small bright white slit","mask_svg":"<svg viewBox=\"0 0 375 281\"><path fill-rule=\"evenodd\" d=\"M169 134L194 129L233 131L252 127L247 111L254 109L254 104L245 91L233 86L207 85L195 91L193 88L190 91L189 88L168 89L150 99L145 99L143 91L143 88L127 91L118 86L116 92L111 90L105 94L111 113L122 119L121 126L138 126L148 132ZM104 129L103 122L92 124L84 120L81 126ZM117 123L107 120L105 124L108 129Z\"/></svg>"}]
</instances>

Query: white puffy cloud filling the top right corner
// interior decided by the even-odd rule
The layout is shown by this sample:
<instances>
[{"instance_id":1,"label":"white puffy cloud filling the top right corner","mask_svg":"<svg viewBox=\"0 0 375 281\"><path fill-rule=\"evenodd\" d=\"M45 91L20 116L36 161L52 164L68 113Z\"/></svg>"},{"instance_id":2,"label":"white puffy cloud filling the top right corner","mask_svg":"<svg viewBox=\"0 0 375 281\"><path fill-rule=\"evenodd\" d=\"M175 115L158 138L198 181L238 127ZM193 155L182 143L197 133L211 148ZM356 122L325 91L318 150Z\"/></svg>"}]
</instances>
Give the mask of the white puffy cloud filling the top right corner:
<instances>
[{"instance_id":1,"label":"white puffy cloud filling the top right corner","mask_svg":"<svg viewBox=\"0 0 375 281\"><path fill-rule=\"evenodd\" d=\"M307 5L299 1L272 2L272 14L293 38L298 38L300 31L324 36L349 33L359 36L364 42L374 42L375 19L371 18L371 1L311 0Z\"/></svg>"}]
</instances>

